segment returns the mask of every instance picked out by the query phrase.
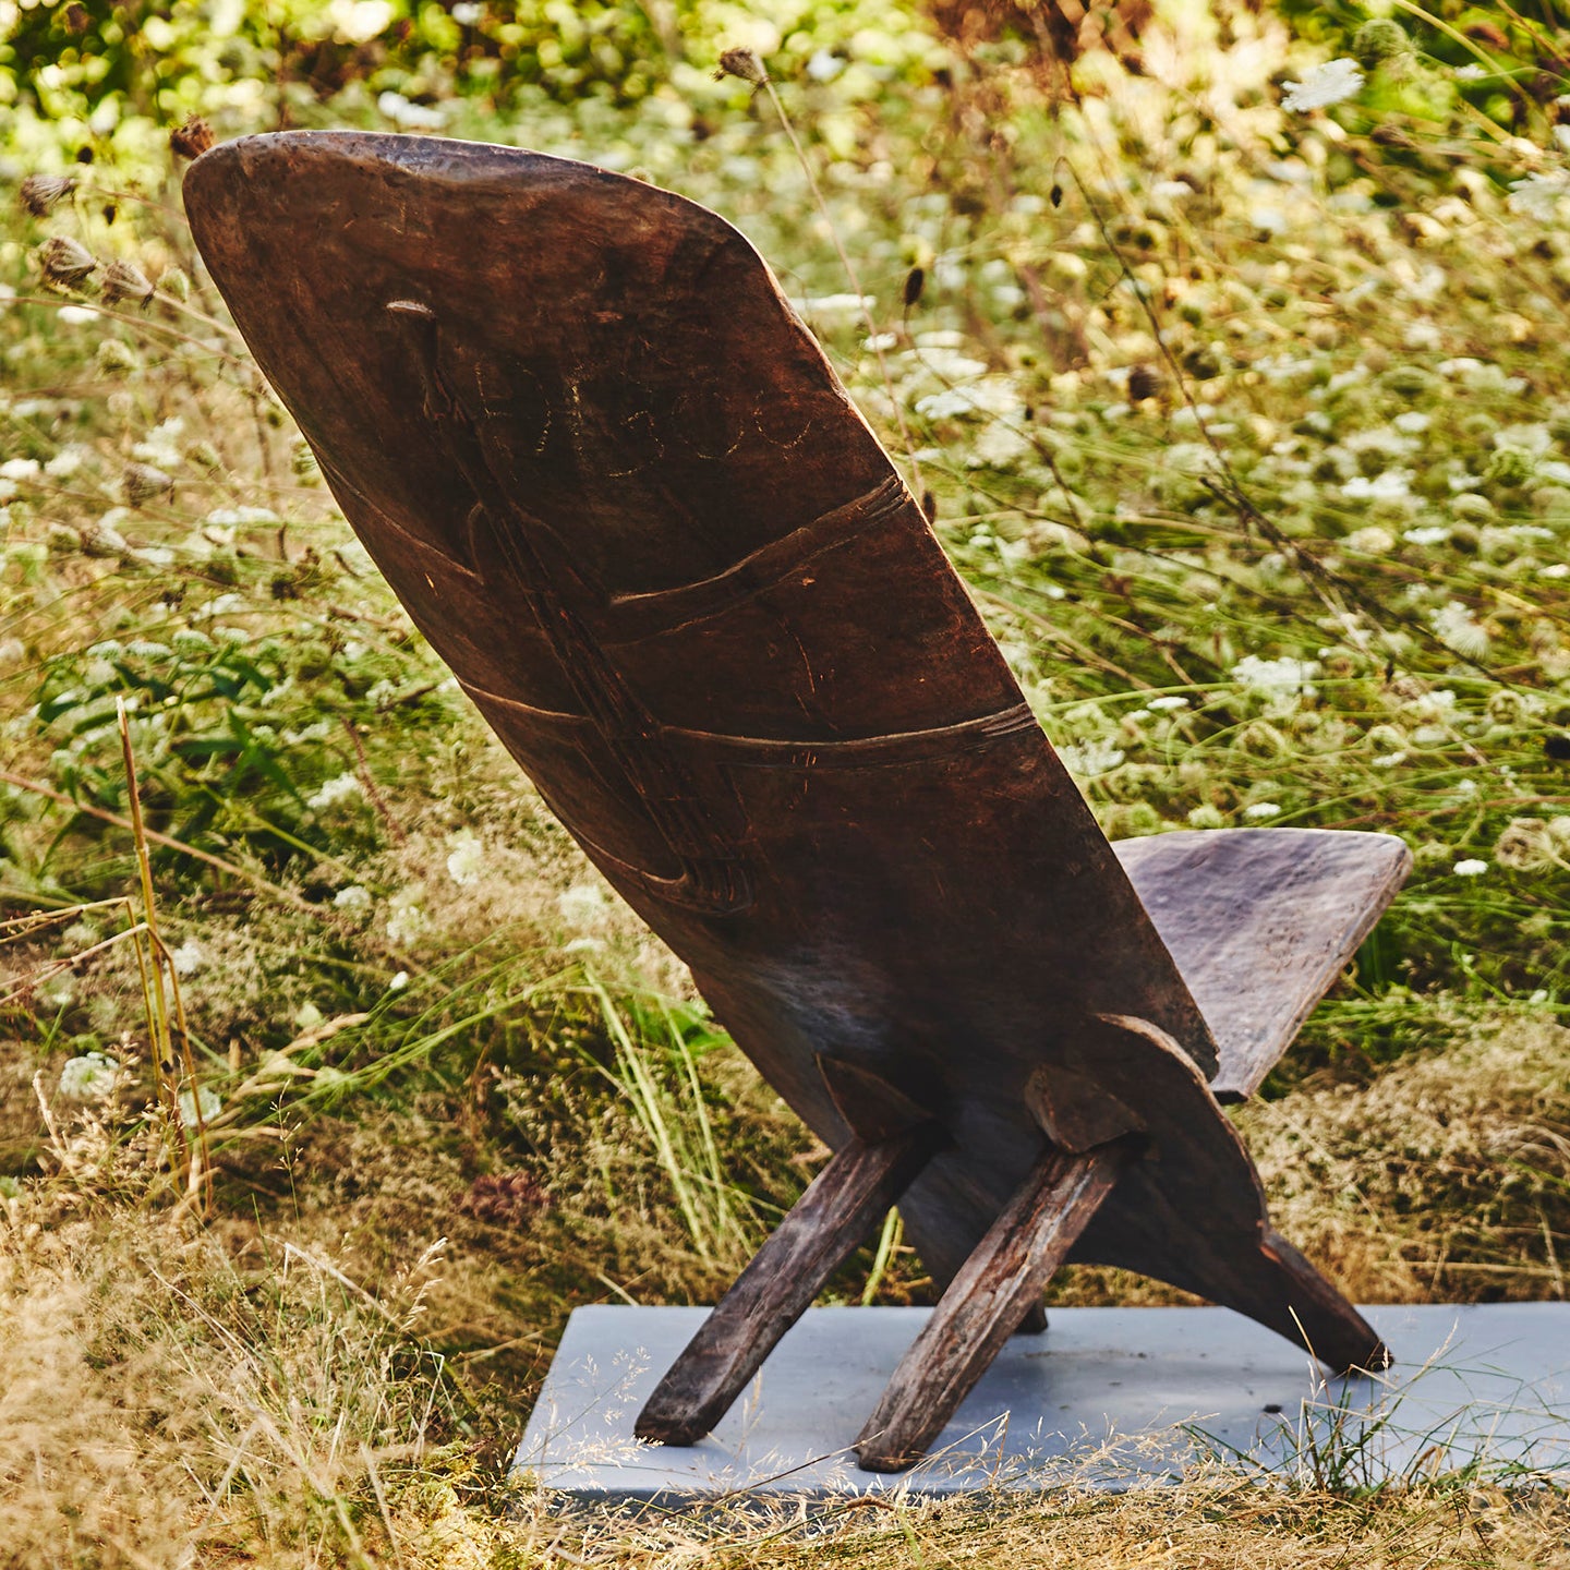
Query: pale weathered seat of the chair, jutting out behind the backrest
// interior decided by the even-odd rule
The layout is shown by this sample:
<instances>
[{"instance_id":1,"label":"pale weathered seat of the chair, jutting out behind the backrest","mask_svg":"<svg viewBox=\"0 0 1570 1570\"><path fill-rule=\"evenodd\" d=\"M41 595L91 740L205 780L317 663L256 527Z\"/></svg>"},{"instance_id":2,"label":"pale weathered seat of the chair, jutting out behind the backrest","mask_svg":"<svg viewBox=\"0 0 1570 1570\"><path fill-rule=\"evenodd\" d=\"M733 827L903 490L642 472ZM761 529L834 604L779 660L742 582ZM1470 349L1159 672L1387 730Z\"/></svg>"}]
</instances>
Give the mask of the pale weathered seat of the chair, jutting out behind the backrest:
<instances>
[{"instance_id":1,"label":"pale weathered seat of the chair, jutting out behind the backrest","mask_svg":"<svg viewBox=\"0 0 1570 1570\"><path fill-rule=\"evenodd\" d=\"M1113 846L1220 1052L1218 1101L1251 1096L1411 870L1388 834L1231 829Z\"/></svg>"}]
</instances>

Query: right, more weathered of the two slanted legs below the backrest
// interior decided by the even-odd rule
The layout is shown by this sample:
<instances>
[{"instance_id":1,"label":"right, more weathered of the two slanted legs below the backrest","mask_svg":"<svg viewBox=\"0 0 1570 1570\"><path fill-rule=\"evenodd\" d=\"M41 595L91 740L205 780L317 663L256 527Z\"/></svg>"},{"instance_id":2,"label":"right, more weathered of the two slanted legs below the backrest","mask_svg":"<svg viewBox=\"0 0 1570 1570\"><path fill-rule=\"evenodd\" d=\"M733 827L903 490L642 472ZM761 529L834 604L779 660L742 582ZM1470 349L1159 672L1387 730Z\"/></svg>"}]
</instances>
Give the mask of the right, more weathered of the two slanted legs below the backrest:
<instances>
[{"instance_id":1,"label":"right, more weathered of the two slanted legs below the backrest","mask_svg":"<svg viewBox=\"0 0 1570 1570\"><path fill-rule=\"evenodd\" d=\"M1053 1270L1112 1192L1134 1146L1083 1156L1049 1149L948 1284L900 1360L856 1441L867 1471L920 1460L975 1382L1019 1328Z\"/></svg>"}]
</instances>

